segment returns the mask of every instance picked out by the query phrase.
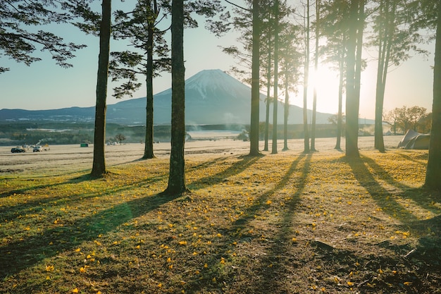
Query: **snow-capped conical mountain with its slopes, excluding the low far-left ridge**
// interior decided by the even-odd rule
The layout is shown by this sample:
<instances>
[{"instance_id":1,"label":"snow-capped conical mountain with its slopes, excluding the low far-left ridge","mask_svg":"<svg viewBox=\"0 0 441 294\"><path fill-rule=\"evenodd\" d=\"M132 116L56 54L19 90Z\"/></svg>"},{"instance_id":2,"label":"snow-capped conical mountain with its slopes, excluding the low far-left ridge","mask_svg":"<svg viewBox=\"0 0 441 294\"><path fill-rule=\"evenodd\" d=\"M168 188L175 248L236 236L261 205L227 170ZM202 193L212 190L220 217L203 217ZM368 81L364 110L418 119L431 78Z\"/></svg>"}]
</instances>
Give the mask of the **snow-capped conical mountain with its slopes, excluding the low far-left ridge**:
<instances>
[{"instance_id":1,"label":"snow-capped conical mountain with its slopes, excluding the low far-left ridge","mask_svg":"<svg viewBox=\"0 0 441 294\"><path fill-rule=\"evenodd\" d=\"M260 96L260 121L265 120L266 95ZM108 118L118 120L132 109L130 118L144 120L146 99L131 99L110 107ZM109 109L109 107L108 107ZM136 109L136 112L135 112ZM139 113L138 113L139 112ZM273 112L271 109L271 116ZM328 123L331 114L317 113L317 123ZM309 111L311 117L311 111ZM204 70L185 80L186 125L249 124L251 88L221 70ZM271 118L272 119L272 118ZM171 89L154 95L154 123L170 124ZM283 123L283 104L278 105L278 123ZM303 123L302 108L290 105L289 124Z\"/></svg>"}]
</instances>

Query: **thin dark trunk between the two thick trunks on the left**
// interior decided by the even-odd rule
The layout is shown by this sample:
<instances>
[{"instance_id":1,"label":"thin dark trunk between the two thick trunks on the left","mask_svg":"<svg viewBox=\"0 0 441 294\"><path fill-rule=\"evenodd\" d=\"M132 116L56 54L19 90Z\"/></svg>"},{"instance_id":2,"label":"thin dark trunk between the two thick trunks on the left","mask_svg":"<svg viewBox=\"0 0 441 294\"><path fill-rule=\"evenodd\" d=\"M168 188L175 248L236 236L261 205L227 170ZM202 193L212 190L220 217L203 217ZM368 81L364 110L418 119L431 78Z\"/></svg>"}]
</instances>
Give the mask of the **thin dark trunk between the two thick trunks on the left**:
<instances>
[{"instance_id":1,"label":"thin dark trunk between the two thick trunks on the left","mask_svg":"<svg viewBox=\"0 0 441 294\"><path fill-rule=\"evenodd\" d=\"M156 8L156 0L154 0ZM148 4L151 7L151 1ZM157 11L151 11L155 16ZM143 159L154 158L153 139L154 139L154 125L153 125L153 39L154 39L154 20L148 20L147 25L147 71L146 71L146 85L147 85L147 106L146 106L146 133Z\"/></svg>"}]
</instances>

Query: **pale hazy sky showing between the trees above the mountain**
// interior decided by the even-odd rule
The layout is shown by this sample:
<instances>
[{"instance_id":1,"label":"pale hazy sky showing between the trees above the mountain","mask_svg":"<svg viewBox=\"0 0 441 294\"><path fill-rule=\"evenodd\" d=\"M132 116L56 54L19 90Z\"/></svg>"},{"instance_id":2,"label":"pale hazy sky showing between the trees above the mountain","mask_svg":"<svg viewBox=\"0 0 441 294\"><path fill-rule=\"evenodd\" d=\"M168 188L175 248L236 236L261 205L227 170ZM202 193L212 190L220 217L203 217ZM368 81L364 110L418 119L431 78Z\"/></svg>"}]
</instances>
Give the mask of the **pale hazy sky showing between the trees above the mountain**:
<instances>
[{"instance_id":1,"label":"pale hazy sky showing between the trees above the mountain","mask_svg":"<svg viewBox=\"0 0 441 294\"><path fill-rule=\"evenodd\" d=\"M57 33L68 41L82 42L88 47L77 51L75 59L71 60L73 68L60 68L56 66L51 56L40 53L43 60L25 66L15 63L1 56L1 66L11 68L11 71L0 75L0 109L59 109L70 106L94 106L95 87L97 82L97 66L99 38L82 34L73 27L57 27ZM219 45L234 44L235 35L217 38L204 29L200 23L197 29L185 30L185 68L186 77L204 69L221 69L229 71L231 66L236 66L236 61L231 56L223 54ZM311 42L313 46L313 42ZM111 50L123 50L117 42L111 42ZM434 50L434 44L426 47ZM371 60L368 68L362 73L360 117L373 118L375 113L375 76L376 63L375 51L365 51L364 58ZM401 106L423 106L431 112L433 99L433 54L428 58L415 56L390 71L387 78L385 92L385 110ZM143 80L140 78L139 80ZM322 67L318 75L317 110L321 112L337 113L337 73ZM111 96L112 87L116 84L109 82L108 104L115 104L117 100ZM163 73L163 77L154 80L154 93L168 89L170 74ZM262 92L266 92L262 90ZM279 91L282 92L282 91ZM312 88L309 90L309 106L312 108ZM145 97L145 87L136 92L133 97ZM302 87L299 86L297 94L291 94L290 103L302 106ZM262 120L263 118L261 118Z\"/></svg>"}]
</instances>

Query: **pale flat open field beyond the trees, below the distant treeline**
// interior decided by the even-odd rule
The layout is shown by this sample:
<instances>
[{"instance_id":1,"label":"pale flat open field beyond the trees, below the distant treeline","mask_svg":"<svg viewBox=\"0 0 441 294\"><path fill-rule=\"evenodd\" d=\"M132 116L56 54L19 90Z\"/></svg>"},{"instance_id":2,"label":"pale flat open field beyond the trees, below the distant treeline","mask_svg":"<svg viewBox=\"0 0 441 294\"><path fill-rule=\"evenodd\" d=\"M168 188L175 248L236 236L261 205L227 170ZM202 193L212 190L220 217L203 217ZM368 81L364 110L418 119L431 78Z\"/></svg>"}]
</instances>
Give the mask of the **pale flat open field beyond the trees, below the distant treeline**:
<instances>
[{"instance_id":1,"label":"pale flat open field beyond the trees, below the distant treeline","mask_svg":"<svg viewBox=\"0 0 441 294\"><path fill-rule=\"evenodd\" d=\"M395 149L402 136L385 137L385 146L388 149ZM271 142L270 151L271 151ZM344 148L344 138L341 144ZM80 145L51 145L49 150L44 152L32 152L28 149L25 153L11 154L11 147L0 146L0 173L51 173L68 171L75 166L75 169L92 169L93 145L80 147ZM278 142L278 151L282 149L282 140ZM289 140L288 154L298 154L303 151L304 140ZM334 149L335 138L318 138L316 149L319 152L341 153ZM360 137L359 148L361 150L373 149L373 137ZM261 142L260 149L263 149ZM106 164L113 166L124 164L140 159L144 154L144 144L122 144L106 146ZM195 155L202 157L222 155L246 155L249 152L249 142L240 140L194 140L185 143L185 154L191 158ZM263 152L269 154L270 152ZM154 154L158 158L166 158L170 155L170 143L161 142L154 145Z\"/></svg>"}]
</instances>

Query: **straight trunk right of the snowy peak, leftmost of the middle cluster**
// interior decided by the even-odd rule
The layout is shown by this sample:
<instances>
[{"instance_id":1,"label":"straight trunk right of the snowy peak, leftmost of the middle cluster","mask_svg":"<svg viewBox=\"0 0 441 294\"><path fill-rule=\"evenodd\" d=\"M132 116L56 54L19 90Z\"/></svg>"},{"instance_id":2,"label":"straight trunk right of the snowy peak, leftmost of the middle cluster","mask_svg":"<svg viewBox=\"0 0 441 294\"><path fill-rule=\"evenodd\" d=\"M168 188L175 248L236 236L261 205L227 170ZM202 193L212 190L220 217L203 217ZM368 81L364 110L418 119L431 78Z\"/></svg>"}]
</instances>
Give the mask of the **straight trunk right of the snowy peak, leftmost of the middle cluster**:
<instances>
[{"instance_id":1,"label":"straight trunk right of the snowy peak, leftmost of the middle cluster","mask_svg":"<svg viewBox=\"0 0 441 294\"><path fill-rule=\"evenodd\" d=\"M260 47L260 20L259 0L253 0L253 49L251 57L251 125L249 131L249 155L259 156L259 47Z\"/></svg>"}]
</instances>

